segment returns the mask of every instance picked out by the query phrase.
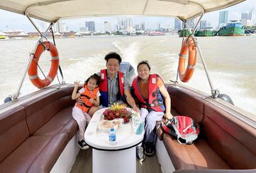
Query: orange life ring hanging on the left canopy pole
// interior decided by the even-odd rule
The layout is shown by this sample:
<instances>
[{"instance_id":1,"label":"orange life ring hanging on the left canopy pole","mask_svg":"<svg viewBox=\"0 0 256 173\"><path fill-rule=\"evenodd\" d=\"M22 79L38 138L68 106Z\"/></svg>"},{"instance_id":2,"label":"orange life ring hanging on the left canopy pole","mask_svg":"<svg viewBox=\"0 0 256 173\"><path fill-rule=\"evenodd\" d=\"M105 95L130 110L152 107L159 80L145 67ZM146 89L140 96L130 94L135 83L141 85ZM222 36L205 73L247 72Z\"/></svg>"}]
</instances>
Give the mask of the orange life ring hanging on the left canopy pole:
<instances>
[{"instance_id":1,"label":"orange life ring hanging on the left canopy pole","mask_svg":"<svg viewBox=\"0 0 256 173\"><path fill-rule=\"evenodd\" d=\"M50 71L48 73L48 76L45 79L40 79L38 76L38 61L43 52L45 52L45 49L50 51L51 58L51 66ZM35 54L33 57L33 60L30 63L30 66L28 67L28 77L30 81L35 85L37 88L45 88L50 83L52 83L52 80L54 80L57 69L59 68L59 54L57 52L57 48L55 47L52 42L40 42L38 44L38 47L35 49Z\"/></svg>"}]
</instances>

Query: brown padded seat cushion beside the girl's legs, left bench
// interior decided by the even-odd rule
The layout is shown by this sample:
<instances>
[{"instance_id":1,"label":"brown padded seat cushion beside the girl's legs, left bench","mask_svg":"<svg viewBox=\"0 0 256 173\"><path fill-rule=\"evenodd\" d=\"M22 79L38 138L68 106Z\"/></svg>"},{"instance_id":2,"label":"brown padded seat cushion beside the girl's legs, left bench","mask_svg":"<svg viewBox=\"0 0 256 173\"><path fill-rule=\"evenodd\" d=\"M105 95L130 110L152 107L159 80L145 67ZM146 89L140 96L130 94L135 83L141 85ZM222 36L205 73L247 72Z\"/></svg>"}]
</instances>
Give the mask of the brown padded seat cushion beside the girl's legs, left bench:
<instances>
[{"instance_id":1,"label":"brown padded seat cushion beside the girl's legs, left bench","mask_svg":"<svg viewBox=\"0 0 256 173\"><path fill-rule=\"evenodd\" d=\"M57 133L68 133L69 140L77 132L77 122L72 117L72 107L62 109L55 114L50 121L44 124L33 136L38 135L55 135Z\"/></svg>"}]
</instances>

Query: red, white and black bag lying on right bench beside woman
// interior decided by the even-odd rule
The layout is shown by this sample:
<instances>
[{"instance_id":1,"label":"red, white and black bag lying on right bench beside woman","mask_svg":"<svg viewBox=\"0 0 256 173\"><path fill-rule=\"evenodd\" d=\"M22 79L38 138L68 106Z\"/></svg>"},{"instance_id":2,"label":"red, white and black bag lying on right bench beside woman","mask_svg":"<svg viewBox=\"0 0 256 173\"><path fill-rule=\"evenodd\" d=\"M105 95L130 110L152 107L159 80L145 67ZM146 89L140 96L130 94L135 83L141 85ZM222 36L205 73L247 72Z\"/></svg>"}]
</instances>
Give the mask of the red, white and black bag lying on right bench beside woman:
<instances>
[{"instance_id":1,"label":"red, white and black bag lying on right bench beside woman","mask_svg":"<svg viewBox=\"0 0 256 173\"><path fill-rule=\"evenodd\" d=\"M186 116L175 116L166 124L161 124L162 129L177 139L182 144L192 144L199 136L199 124Z\"/></svg>"}]
</instances>

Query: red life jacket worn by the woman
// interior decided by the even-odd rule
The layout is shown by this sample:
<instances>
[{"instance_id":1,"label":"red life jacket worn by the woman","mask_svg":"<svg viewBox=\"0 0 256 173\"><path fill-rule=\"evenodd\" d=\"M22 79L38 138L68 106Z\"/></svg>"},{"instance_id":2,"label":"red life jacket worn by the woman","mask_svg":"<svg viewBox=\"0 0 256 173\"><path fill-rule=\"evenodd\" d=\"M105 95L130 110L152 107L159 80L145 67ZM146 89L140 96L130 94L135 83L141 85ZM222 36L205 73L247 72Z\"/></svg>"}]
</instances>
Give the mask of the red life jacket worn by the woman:
<instances>
[{"instance_id":1,"label":"red life jacket worn by the woman","mask_svg":"<svg viewBox=\"0 0 256 173\"><path fill-rule=\"evenodd\" d=\"M148 83L148 101L146 102L143 96L140 94L140 90L138 88L138 76L133 80L133 90L134 94L139 102L140 107L144 107L147 109L152 109L156 112L165 112L165 105L160 90L157 85L157 78L159 76L157 74L151 74L149 77ZM160 79L162 80L162 79Z\"/></svg>"}]
</instances>

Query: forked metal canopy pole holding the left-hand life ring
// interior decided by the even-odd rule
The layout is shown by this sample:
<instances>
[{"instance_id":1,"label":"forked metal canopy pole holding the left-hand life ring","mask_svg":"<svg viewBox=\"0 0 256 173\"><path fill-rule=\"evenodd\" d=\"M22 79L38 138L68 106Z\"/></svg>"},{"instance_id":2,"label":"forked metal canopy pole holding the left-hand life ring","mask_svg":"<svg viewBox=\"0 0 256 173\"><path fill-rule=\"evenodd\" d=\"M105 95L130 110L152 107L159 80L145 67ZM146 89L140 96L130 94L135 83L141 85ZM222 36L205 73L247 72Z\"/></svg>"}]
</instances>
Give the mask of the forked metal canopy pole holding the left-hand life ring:
<instances>
[{"instance_id":1,"label":"forked metal canopy pole holding the left-hand life ring","mask_svg":"<svg viewBox=\"0 0 256 173\"><path fill-rule=\"evenodd\" d=\"M30 8L30 7L29 7ZM42 34L40 32L40 30L36 27L35 23L33 23L33 20L30 18L30 16L28 16L28 9L26 9L26 16L28 18L28 20L30 20L30 22L32 23L32 25L35 27L36 30L38 30L39 34L41 35L40 39L38 40L38 42L35 44L35 48L33 49L32 52L30 52L30 57L28 59L28 65L26 67L26 70L24 71L24 74L23 74L23 78L21 79L21 82L20 82L20 85L18 85L18 89L16 91L16 93L14 93L13 95L11 95L11 100L13 101L17 101L18 100L18 97L20 96L20 91L21 91L21 87L23 85L23 82L26 78L26 74L28 73L28 67L30 66L32 60L33 60L33 57L34 57L34 54L35 54L35 49L38 47L38 44L40 44L40 42L43 41L43 38L45 38L45 40L47 40L47 38L45 37L45 35L47 34L48 30L50 30L50 28L52 28L52 23L50 23L50 25L48 26L48 28L45 30L45 32Z\"/></svg>"}]
</instances>

